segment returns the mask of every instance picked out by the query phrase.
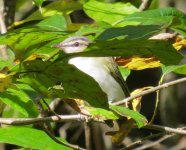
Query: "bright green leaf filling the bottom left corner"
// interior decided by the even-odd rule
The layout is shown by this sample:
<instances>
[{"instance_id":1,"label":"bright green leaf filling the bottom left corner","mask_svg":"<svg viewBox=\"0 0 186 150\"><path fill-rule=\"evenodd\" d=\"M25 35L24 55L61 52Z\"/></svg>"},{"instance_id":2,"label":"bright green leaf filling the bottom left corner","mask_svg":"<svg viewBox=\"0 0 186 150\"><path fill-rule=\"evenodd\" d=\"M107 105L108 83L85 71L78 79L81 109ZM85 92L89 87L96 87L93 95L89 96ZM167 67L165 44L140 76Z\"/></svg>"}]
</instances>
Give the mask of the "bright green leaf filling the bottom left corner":
<instances>
[{"instance_id":1,"label":"bright green leaf filling the bottom left corner","mask_svg":"<svg viewBox=\"0 0 186 150\"><path fill-rule=\"evenodd\" d=\"M62 140L62 139L60 139ZM66 142L65 140L62 140ZM44 131L27 127L0 128L0 142L39 150L70 150L53 141Z\"/></svg>"}]
</instances>

